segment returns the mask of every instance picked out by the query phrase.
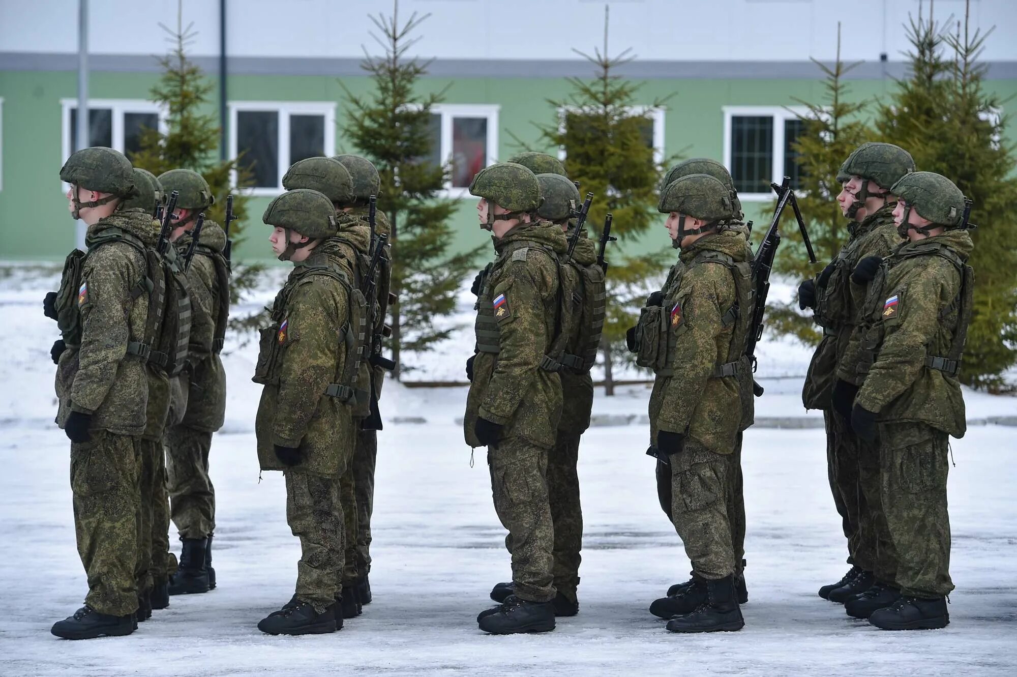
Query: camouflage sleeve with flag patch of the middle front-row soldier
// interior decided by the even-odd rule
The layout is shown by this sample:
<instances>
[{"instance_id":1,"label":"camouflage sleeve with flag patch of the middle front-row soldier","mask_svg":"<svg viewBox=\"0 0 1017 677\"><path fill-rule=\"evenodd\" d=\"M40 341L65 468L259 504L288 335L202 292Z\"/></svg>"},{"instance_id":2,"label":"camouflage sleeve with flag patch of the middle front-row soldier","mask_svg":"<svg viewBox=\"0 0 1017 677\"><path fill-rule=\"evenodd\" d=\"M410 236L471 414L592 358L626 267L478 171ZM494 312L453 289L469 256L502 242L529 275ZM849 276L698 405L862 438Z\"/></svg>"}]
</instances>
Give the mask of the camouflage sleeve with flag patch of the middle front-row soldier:
<instances>
[{"instance_id":1,"label":"camouflage sleeve with flag patch of the middle front-row soldier","mask_svg":"<svg viewBox=\"0 0 1017 677\"><path fill-rule=\"evenodd\" d=\"M501 350L480 416L494 423L505 424L512 419L537 377L540 359L550 342L541 292L551 285L543 266L535 264L535 254L530 256L527 261L511 262L492 292ZM557 284L556 278L553 284ZM550 289L552 294L554 291Z\"/></svg>"}]
</instances>

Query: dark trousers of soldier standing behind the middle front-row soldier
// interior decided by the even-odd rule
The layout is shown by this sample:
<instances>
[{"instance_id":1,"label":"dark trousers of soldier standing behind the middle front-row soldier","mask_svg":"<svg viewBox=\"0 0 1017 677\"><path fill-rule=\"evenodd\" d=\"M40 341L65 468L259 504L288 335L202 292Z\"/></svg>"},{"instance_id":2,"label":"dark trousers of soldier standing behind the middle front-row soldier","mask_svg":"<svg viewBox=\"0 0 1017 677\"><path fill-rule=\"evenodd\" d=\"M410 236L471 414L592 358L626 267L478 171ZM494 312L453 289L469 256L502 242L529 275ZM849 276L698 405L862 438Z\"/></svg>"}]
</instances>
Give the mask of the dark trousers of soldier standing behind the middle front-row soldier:
<instances>
[{"instance_id":1,"label":"dark trousers of soldier standing behind the middle front-row soldier","mask_svg":"<svg viewBox=\"0 0 1017 677\"><path fill-rule=\"evenodd\" d=\"M547 495L554 530L554 588L576 601L583 549L583 508L579 497L580 435L558 431L547 458Z\"/></svg>"}]
</instances>

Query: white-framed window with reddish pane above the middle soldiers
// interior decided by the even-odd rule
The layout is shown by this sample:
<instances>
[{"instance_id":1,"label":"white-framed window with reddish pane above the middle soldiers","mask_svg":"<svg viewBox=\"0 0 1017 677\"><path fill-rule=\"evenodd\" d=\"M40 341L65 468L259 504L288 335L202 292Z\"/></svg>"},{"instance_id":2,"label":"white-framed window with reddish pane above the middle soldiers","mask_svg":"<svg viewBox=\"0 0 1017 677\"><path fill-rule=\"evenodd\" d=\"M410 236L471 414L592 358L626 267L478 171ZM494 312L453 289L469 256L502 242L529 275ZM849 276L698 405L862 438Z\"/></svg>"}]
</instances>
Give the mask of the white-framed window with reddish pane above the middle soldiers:
<instances>
[{"instance_id":1,"label":"white-framed window with reddish pane above the middle soldiers","mask_svg":"<svg viewBox=\"0 0 1017 677\"><path fill-rule=\"evenodd\" d=\"M477 172L497 162L498 106L440 104L431 107L431 151L427 160L452 165L448 197L469 196Z\"/></svg>"}]
</instances>

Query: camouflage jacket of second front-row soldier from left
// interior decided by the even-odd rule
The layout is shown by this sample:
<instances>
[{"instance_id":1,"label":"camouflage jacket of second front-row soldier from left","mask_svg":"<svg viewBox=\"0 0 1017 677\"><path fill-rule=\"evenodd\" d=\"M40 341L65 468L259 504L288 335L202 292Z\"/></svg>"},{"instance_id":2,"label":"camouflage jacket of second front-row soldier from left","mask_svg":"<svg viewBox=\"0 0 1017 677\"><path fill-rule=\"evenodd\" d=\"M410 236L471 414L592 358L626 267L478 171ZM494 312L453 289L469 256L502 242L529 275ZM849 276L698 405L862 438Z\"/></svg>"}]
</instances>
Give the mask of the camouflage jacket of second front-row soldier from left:
<instances>
[{"instance_id":1,"label":"camouflage jacket of second front-row soldier from left","mask_svg":"<svg viewBox=\"0 0 1017 677\"><path fill-rule=\"evenodd\" d=\"M350 288L325 246L297 263L261 329L255 383L264 385L254 430L262 470L286 470L275 445L299 447L298 470L338 477L353 452L349 405L330 395L346 363ZM320 249L320 251L318 251Z\"/></svg>"}]
</instances>

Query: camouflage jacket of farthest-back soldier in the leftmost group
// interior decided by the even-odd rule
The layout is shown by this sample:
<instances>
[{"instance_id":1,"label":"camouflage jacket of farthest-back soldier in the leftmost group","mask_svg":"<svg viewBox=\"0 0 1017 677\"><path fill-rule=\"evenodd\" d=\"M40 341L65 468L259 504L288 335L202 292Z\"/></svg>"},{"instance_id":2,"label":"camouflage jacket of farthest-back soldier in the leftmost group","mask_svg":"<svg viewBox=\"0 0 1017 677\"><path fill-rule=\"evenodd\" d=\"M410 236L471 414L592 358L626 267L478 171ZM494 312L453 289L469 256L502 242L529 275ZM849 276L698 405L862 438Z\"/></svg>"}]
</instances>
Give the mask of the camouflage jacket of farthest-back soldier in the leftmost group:
<instances>
[{"instance_id":1,"label":"camouflage jacket of farthest-back soldier in the leftmost group","mask_svg":"<svg viewBox=\"0 0 1017 677\"><path fill-rule=\"evenodd\" d=\"M190 233L184 233L174 244L183 254L191 242ZM201 227L198 246L187 271L187 293L191 299L191 330L188 346L188 367L177 378L181 388L186 386L185 412L181 425L194 430L215 432L223 426L226 417L226 372L219 357L221 346L215 345L216 323L220 321L222 306L229 307L229 285L220 282L217 265L223 265L226 232L215 222L205 221ZM225 298L224 298L225 297ZM226 318L222 318L226 321ZM174 403L174 407L177 404ZM174 416L173 418L179 418Z\"/></svg>"}]
</instances>

